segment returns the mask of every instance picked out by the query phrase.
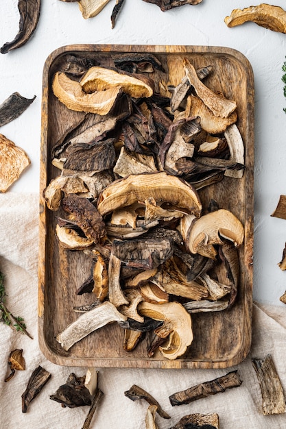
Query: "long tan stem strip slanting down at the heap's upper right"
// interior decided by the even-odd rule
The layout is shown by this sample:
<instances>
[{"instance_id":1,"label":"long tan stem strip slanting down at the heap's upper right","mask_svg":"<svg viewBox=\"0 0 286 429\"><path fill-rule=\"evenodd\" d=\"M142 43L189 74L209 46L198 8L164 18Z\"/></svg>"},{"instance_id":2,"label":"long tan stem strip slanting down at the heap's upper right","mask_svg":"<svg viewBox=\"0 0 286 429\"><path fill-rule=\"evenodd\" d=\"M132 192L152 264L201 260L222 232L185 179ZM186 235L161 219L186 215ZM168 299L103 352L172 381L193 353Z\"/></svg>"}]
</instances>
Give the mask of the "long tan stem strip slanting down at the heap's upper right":
<instances>
[{"instance_id":1,"label":"long tan stem strip slanting down at the heap's upper right","mask_svg":"<svg viewBox=\"0 0 286 429\"><path fill-rule=\"evenodd\" d=\"M213 93L212 90L205 86L198 78L195 67L187 58L184 58L184 69L190 84L195 88L195 92L198 97L204 101L204 104L213 112L215 117L227 118L235 111L237 103Z\"/></svg>"}]
</instances>

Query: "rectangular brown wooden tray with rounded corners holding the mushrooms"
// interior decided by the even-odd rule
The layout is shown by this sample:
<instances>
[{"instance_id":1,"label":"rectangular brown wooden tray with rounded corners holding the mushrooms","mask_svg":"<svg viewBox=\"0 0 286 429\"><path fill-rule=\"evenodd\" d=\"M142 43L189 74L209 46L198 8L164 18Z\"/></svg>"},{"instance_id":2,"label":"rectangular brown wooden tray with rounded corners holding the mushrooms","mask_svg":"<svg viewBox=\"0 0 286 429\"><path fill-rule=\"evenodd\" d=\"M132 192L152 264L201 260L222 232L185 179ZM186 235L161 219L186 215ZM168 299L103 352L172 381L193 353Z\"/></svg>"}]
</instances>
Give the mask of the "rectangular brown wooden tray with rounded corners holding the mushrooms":
<instances>
[{"instance_id":1,"label":"rectangular brown wooden tray with rounded corners holding the mushrooms","mask_svg":"<svg viewBox=\"0 0 286 429\"><path fill-rule=\"evenodd\" d=\"M65 108L51 91L51 78L63 56L82 53L88 58L108 58L110 53L151 52L169 70L165 82L178 84L184 71L182 58L196 68L212 64L207 85L222 90L237 101L237 126L246 149L246 169L241 180L225 177L218 184L199 191L203 206L211 197L220 208L231 210L245 225L244 245L239 249L240 284L233 308L221 312L192 315L194 340L181 358L167 360L158 352L148 358L145 341L134 352L123 350L123 329L112 323L93 332L65 352L56 335L78 318L73 306L93 302L91 294L76 295L86 280L91 260L82 252L64 251L58 245L55 213L47 210L43 190L58 170L51 165L51 148L71 119L78 115ZM156 72L159 73L159 72ZM156 73L152 75L158 85ZM158 89L157 89L158 90ZM53 363L93 367L142 368L224 368L240 363L250 350L252 326L252 245L253 245L253 161L254 161L254 83L248 60L225 47L71 45L53 51L43 71L43 106L40 164L40 256L38 287L38 333L40 349ZM86 296L88 295L88 296Z\"/></svg>"}]
</instances>

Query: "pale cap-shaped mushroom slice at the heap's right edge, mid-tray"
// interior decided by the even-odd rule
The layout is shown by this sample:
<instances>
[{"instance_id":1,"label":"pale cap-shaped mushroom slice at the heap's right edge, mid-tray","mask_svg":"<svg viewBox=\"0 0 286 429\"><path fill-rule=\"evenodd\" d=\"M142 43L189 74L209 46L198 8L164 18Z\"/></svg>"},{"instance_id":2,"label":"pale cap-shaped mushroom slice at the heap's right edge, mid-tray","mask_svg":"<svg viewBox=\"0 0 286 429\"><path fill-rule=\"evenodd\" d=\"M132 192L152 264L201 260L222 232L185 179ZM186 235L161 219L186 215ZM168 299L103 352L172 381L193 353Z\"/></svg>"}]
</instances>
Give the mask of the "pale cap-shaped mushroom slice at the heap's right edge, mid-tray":
<instances>
[{"instance_id":1,"label":"pale cap-shaped mushroom slice at the heap's right edge, mid-tray","mask_svg":"<svg viewBox=\"0 0 286 429\"><path fill-rule=\"evenodd\" d=\"M186 245L192 254L214 259L217 251L213 245L221 245L222 238L232 241L235 246L241 245L244 238L241 221L225 209L195 219L189 228Z\"/></svg>"}]
</instances>

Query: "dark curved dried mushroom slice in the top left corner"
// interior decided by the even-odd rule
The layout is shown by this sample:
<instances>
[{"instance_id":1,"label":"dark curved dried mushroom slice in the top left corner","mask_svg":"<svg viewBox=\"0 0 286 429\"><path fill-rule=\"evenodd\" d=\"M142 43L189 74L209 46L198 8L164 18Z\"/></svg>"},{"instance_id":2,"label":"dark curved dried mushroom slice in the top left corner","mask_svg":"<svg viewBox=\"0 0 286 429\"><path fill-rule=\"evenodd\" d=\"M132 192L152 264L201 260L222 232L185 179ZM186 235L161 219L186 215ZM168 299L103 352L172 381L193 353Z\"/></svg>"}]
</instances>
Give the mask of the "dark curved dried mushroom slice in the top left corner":
<instances>
[{"instance_id":1,"label":"dark curved dried mushroom slice in the top left corner","mask_svg":"<svg viewBox=\"0 0 286 429\"><path fill-rule=\"evenodd\" d=\"M19 0L20 12L19 32L12 42L5 43L1 53L7 53L12 49L23 46L34 33L40 17L40 0Z\"/></svg>"}]
</instances>

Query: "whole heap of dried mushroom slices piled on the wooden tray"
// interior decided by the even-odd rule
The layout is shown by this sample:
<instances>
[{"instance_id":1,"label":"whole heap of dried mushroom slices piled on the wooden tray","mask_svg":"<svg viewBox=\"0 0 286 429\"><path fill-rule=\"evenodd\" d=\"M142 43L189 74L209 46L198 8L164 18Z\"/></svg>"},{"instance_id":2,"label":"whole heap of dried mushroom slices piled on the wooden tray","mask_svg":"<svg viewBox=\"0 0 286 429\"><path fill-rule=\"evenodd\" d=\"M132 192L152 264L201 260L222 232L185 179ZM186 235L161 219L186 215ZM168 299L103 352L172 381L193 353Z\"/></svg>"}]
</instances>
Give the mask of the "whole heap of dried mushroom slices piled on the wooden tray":
<instances>
[{"instance_id":1,"label":"whole heap of dried mushroom slices piled on the wooden tray","mask_svg":"<svg viewBox=\"0 0 286 429\"><path fill-rule=\"evenodd\" d=\"M166 66L153 54L106 58L73 76L63 62L52 76L53 102L84 116L54 142L58 176L44 195L63 252L91 258L77 294L93 299L74 308L81 314L56 340L69 351L118 323L126 352L146 339L147 356L174 360L191 347L192 313L230 308L239 289L243 224L200 195L243 177L237 103L202 82L215 73L208 64L195 69L180 58L182 82L167 89Z\"/></svg>"}]
</instances>

